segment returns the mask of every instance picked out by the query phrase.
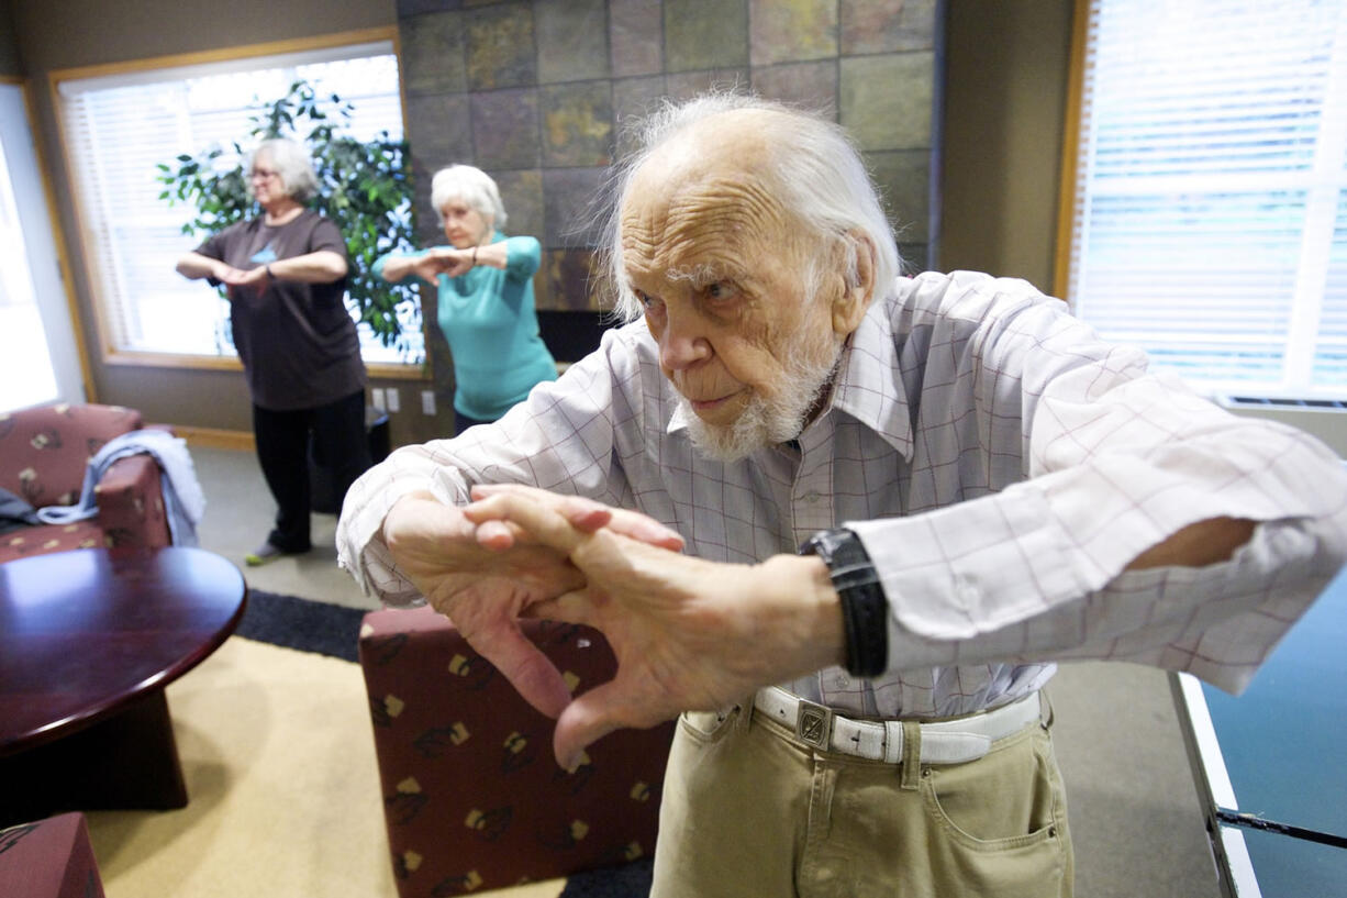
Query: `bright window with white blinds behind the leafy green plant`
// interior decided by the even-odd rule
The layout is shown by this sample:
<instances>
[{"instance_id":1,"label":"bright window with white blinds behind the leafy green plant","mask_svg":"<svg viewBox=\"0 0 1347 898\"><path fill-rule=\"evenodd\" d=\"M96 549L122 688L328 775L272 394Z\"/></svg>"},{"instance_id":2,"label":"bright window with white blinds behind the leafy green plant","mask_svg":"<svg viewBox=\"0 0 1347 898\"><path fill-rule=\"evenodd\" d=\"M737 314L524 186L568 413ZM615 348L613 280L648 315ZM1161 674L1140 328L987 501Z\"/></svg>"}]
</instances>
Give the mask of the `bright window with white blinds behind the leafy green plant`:
<instances>
[{"instance_id":1,"label":"bright window with white blinds behind the leafy green plant","mask_svg":"<svg viewBox=\"0 0 1347 898\"><path fill-rule=\"evenodd\" d=\"M245 142L259 101L284 96L296 80L354 107L352 136L403 136L397 58L388 40L54 80L104 344L143 361L155 353L236 355L229 303L174 271L203 235L182 232L193 218L189 206L159 198L159 163L218 144L225 150L218 164L232 169L240 160L236 144L251 150ZM368 363L424 357L419 311L403 324L405 353L360 328Z\"/></svg>"}]
</instances>

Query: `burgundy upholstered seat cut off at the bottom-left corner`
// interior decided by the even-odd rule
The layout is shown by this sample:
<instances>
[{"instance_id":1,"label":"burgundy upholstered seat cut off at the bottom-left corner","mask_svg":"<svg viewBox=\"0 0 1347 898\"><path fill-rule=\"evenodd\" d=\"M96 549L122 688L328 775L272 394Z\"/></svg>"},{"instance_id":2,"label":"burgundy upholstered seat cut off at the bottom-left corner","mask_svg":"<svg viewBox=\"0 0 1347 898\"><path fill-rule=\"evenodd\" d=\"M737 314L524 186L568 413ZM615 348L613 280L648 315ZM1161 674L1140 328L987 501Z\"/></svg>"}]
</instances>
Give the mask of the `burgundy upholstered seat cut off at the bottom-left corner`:
<instances>
[{"instance_id":1,"label":"burgundy upholstered seat cut off at the bottom-left corner","mask_svg":"<svg viewBox=\"0 0 1347 898\"><path fill-rule=\"evenodd\" d=\"M84 814L58 814L0 829L0 895L102 898Z\"/></svg>"}]
</instances>

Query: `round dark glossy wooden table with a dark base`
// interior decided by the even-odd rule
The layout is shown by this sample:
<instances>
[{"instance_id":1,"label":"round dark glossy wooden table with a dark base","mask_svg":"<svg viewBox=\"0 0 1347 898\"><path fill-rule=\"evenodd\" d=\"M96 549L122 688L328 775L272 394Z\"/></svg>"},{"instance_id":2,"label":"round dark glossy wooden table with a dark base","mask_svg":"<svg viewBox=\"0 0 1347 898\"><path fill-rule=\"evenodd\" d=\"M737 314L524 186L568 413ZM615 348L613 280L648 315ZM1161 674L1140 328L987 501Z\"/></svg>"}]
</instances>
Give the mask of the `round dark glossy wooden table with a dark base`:
<instances>
[{"instance_id":1,"label":"round dark glossy wooden table with a dark base","mask_svg":"<svg viewBox=\"0 0 1347 898\"><path fill-rule=\"evenodd\" d=\"M186 805L164 686L224 643L245 596L201 549L0 564L3 814Z\"/></svg>"}]
</instances>

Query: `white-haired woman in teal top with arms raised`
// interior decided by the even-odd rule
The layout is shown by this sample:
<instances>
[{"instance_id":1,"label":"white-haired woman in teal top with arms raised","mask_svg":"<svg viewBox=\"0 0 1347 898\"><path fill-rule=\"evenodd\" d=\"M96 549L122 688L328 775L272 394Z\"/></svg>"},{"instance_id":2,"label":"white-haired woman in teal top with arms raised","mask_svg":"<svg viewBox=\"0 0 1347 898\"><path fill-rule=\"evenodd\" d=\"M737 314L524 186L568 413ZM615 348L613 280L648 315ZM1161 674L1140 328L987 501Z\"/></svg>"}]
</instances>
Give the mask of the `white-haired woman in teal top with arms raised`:
<instances>
[{"instance_id":1,"label":"white-haired woman in teal top with arms raised","mask_svg":"<svg viewBox=\"0 0 1347 898\"><path fill-rule=\"evenodd\" d=\"M431 181L431 204L450 245L391 252L374 263L384 280L419 276L439 287L439 328L454 356L454 422L462 433L496 421L533 384L556 380L537 333L533 237L506 237L505 208L490 175L450 166Z\"/></svg>"}]
</instances>

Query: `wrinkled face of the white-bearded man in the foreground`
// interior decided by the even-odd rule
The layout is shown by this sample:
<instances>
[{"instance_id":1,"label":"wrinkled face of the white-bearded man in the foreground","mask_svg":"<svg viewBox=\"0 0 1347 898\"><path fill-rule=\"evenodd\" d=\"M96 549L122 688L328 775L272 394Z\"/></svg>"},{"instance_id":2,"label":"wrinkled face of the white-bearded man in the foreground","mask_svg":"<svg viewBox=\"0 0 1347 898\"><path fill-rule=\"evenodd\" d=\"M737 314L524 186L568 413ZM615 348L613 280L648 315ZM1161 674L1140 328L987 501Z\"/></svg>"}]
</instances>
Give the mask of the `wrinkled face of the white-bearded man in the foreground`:
<instances>
[{"instance_id":1,"label":"wrinkled face of the white-bearded man in the foreground","mask_svg":"<svg viewBox=\"0 0 1347 898\"><path fill-rule=\"evenodd\" d=\"M660 368L692 413L698 448L725 461L799 436L845 337L814 295L816 241L752 175L752 152L741 164L750 148L738 150L733 162L663 154L621 209L622 266Z\"/></svg>"}]
</instances>

